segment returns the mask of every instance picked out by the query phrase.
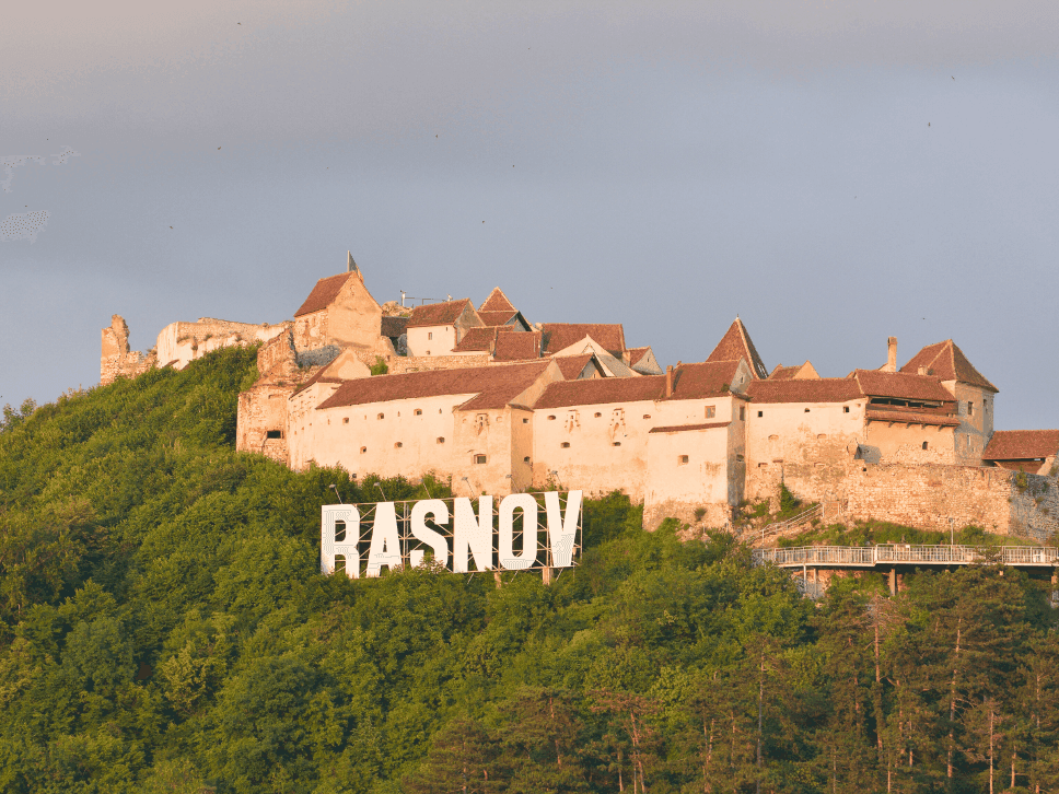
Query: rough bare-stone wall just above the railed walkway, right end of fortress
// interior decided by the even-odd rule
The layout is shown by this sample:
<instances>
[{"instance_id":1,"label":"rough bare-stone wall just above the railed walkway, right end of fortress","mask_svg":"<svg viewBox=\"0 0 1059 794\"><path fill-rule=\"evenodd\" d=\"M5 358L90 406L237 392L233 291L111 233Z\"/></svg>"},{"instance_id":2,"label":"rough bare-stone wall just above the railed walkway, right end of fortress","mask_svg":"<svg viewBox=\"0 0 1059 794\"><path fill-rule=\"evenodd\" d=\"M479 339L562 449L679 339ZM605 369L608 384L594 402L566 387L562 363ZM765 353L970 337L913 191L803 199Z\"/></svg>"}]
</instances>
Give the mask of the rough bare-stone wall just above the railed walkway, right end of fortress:
<instances>
[{"instance_id":1,"label":"rough bare-stone wall just above the railed walkway, right end of fortress","mask_svg":"<svg viewBox=\"0 0 1059 794\"><path fill-rule=\"evenodd\" d=\"M846 481L846 517L949 529L975 525L1001 535L1044 540L1059 529L1055 477L975 466L853 462Z\"/></svg>"}]
</instances>

